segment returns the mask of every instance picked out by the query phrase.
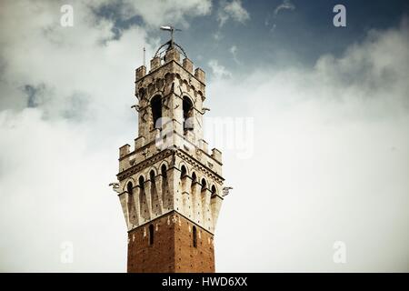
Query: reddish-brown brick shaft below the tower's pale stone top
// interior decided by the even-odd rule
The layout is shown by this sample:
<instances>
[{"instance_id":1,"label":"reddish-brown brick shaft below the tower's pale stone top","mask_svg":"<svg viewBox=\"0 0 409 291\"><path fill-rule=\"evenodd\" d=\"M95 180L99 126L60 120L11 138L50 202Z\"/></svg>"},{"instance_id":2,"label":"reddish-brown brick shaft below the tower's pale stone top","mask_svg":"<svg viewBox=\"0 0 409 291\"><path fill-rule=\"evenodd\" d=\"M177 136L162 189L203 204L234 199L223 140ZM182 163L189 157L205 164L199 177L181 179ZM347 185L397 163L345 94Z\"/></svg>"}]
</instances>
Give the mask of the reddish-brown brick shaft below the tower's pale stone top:
<instances>
[{"instance_id":1,"label":"reddish-brown brick shaft below the tower's pale stone top","mask_svg":"<svg viewBox=\"0 0 409 291\"><path fill-rule=\"evenodd\" d=\"M154 226L153 245L149 244L150 224ZM214 272L213 235L175 212L130 231L128 241L128 272Z\"/></svg>"}]
</instances>

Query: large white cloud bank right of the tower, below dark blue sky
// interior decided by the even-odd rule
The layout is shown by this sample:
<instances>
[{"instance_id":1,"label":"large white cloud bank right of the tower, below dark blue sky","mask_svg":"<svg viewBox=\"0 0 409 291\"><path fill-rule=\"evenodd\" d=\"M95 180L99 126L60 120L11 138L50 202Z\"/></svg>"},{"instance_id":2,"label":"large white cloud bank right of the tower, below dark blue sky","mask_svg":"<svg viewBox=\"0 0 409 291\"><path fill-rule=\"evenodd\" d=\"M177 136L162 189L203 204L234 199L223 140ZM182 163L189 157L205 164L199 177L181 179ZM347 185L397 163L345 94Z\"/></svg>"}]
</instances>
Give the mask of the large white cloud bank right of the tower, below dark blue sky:
<instances>
[{"instance_id":1,"label":"large white cloud bank right of the tower, below dark blue sky","mask_svg":"<svg viewBox=\"0 0 409 291\"><path fill-rule=\"evenodd\" d=\"M408 271L408 31L373 31L314 67L208 86L213 115L254 116L254 156L224 150L234 190L217 226L218 271ZM224 244L244 230L234 251ZM334 264L335 241L346 264Z\"/></svg>"}]
</instances>

